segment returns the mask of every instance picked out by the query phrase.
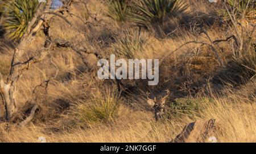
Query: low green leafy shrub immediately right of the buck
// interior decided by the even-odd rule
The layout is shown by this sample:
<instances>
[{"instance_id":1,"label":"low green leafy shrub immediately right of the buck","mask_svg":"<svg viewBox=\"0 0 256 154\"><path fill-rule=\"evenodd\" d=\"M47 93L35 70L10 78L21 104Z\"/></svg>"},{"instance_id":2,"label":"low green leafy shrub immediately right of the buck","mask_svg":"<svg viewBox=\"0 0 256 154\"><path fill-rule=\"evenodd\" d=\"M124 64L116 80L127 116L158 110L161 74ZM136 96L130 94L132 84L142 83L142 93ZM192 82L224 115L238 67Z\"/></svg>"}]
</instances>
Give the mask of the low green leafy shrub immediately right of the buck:
<instances>
[{"instance_id":1,"label":"low green leafy shrub immediately right of the buck","mask_svg":"<svg viewBox=\"0 0 256 154\"><path fill-rule=\"evenodd\" d=\"M189 116L190 118L200 116L200 111L203 111L204 105L211 102L208 98L202 99L175 99L174 103L170 103L169 109L167 109L168 118L181 118L183 116Z\"/></svg>"}]
</instances>

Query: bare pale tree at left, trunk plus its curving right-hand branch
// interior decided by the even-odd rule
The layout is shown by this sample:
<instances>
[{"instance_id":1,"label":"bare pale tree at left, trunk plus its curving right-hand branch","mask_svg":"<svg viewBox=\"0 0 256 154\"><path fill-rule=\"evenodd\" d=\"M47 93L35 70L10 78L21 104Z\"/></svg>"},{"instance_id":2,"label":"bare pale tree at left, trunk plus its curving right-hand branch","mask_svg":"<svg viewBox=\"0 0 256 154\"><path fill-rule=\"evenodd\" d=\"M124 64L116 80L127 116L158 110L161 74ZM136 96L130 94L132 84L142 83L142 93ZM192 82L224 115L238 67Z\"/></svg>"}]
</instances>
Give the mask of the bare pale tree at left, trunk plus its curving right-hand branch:
<instances>
[{"instance_id":1,"label":"bare pale tree at left, trunk plus its curving right-hand branch","mask_svg":"<svg viewBox=\"0 0 256 154\"><path fill-rule=\"evenodd\" d=\"M68 5L70 5L72 0L68 1L63 7L60 8L67 8ZM28 69L32 64L39 63L39 61L42 61L44 58L48 55L48 50L51 48L51 38L49 38L48 35L48 28L46 26L47 20L52 18L55 14L45 14L44 10L49 10L49 7L51 6L52 0L47 1L46 7L44 7L42 4L39 5L38 10L35 13L34 18L31 20L31 22L28 24L27 31L23 35L23 37L20 39L20 43L18 47L15 48L13 59L11 60L11 69L10 74L6 80L6 82L3 82L1 80L0 83L0 96L3 101L3 105L5 105L5 119L7 122L10 122L13 118L14 113L16 113L17 107L16 107L16 100L15 100L15 90L16 90L16 84L19 80L19 77L22 75L23 70ZM58 11L58 10L57 10ZM36 37L35 33L40 30L41 26L44 26L44 34L46 35L46 41L44 48L42 48L39 51L39 55L35 57L31 57L25 62L22 61L22 56L24 52L27 49L28 44L31 43Z\"/></svg>"}]
</instances>

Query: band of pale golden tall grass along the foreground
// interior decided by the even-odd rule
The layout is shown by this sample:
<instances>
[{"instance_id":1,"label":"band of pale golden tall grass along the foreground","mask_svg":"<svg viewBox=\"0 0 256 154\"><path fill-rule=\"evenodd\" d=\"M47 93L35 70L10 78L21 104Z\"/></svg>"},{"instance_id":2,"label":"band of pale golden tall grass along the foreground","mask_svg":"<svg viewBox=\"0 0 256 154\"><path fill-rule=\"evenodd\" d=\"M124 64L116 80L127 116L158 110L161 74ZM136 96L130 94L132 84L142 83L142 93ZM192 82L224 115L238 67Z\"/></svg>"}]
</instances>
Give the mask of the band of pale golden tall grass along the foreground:
<instances>
[{"instance_id":1,"label":"band of pale golden tall grass along the foreground","mask_svg":"<svg viewBox=\"0 0 256 154\"><path fill-rule=\"evenodd\" d=\"M33 124L7 131L2 124L0 136L4 142L38 142L40 136L44 136L48 142L166 142L171 141L185 124L195 119L216 118L224 130L218 135L219 142L255 142L256 105L250 102L255 102L256 97L243 98L234 93L227 94L233 95L232 99L215 96L204 99L200 102L204 110L199 114L184 115L164 122L154 122L149 111L135 111L122 106L118 109L121 115L110 123L93 122L88 128L73 127L61 132Z\"/></svg>"}]
</instances>

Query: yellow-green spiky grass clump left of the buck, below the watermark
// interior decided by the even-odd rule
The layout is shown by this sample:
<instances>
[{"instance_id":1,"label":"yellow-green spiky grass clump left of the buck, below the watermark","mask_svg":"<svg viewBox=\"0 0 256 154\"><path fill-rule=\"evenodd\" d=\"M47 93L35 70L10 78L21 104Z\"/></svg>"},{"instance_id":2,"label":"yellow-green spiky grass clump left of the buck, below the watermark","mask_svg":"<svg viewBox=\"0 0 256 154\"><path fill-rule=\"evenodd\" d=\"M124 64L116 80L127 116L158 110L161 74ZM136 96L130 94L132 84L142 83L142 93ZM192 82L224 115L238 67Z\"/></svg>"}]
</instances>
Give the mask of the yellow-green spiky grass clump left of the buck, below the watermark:
<instances>
[{"instance_id":1,"label":"yellow-green spiky grass clump left of the buck, below the watermark","mask_svg":"<svg viewBox=\"0 0 256 154\"><path fill-rule=\"evenodd\" d=\"M119 115L122 99L109 90L103 94L90 96L77 105L77 114L81 123L112 122Z\"/></svg>"}]
</instances>

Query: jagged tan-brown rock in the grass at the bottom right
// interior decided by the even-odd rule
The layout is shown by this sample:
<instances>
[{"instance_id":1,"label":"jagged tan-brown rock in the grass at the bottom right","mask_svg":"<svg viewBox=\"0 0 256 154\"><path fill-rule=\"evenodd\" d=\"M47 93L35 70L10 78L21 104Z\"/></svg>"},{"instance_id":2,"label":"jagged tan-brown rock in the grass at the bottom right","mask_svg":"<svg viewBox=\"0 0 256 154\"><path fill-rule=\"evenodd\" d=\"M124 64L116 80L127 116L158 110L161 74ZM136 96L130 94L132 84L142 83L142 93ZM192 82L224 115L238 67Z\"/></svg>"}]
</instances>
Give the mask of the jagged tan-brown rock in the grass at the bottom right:
<instances>
[{"instance_id":1,"label":"jagged tan-brown rock in the grass at the bottom right","mask_svg":"<svg viewBox=\"0 0 256 154\"><path fill-rule=\"evenodd\" d=\"M217 136L221 134L221 127L216 119L196 120L183 128L183 131L176 136L172 143L198 143L218 142Z\"/></svg>"}]
</instances>

